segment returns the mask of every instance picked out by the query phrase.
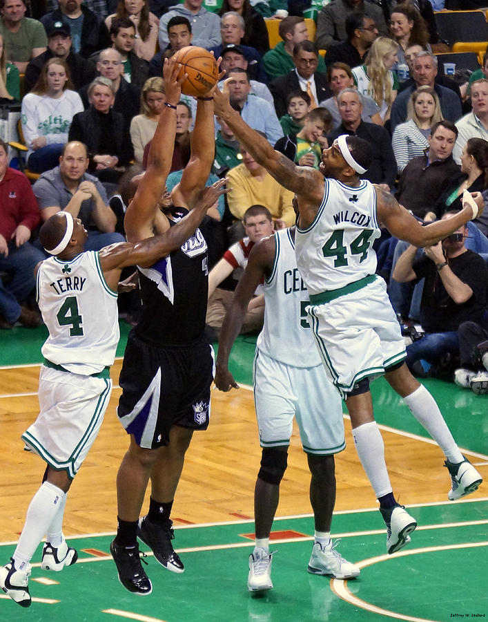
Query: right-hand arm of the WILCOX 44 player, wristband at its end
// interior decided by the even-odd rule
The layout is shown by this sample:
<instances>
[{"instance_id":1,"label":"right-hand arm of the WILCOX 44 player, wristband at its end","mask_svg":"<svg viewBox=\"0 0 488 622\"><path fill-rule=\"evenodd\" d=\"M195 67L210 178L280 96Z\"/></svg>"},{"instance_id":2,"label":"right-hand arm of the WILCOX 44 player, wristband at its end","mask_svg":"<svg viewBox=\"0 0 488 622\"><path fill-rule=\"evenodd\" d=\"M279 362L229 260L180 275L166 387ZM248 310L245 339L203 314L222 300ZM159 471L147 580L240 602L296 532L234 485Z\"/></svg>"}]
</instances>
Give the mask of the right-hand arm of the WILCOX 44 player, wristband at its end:
<instances>
[{"instance_id":1,"label":"right-hand arm of the WILCOX 44 player, wristband at its end","mask_svg":"<svg viewBox=\"0 0 488 622\"><path fill-rule=\"evenodd\" d=\"M376 211L378 222L388 229L392 236L409 242L418 248L432 246L456 231L461 225L476 218L481 213L480 200L476 196L477 214L474 209L465 202L464 207L458 214L445 220L437 220L435 223L426 225L420 223L410 212L399 205L397 200L389 192L378 186L376 190ZM479 193L475 193L476 195Z\"/></svg>"}]
</instances>

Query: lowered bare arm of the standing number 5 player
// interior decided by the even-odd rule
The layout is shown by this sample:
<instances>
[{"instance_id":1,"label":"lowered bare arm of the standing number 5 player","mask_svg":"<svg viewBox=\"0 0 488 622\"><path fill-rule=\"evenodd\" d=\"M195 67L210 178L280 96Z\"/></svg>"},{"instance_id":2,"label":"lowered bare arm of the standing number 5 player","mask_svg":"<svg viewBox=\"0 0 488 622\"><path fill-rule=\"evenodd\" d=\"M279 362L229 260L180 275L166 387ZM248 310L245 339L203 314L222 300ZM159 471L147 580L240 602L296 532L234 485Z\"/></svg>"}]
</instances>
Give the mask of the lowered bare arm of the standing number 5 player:
<instances>
[{"instance_id":1,"label":"lowered bare arm of the standing number 5 player","mask_svg":"<svg viewBox=\"0 0 488 622\"><path fill-rule=\"evenodd\" d=\"M221 391L230 391L231 388L239 388L233 375L228 370L228 357L235 338L239 334L249 301L256 291L257 285L262 278L271 272L275 261L275 238L264 238L254 245L249 254L246 270L242 274L237 288L235 288L231 306L228 308L219 337L219 351L215 363L215 386Z\"/></svg>"}]
</instances>

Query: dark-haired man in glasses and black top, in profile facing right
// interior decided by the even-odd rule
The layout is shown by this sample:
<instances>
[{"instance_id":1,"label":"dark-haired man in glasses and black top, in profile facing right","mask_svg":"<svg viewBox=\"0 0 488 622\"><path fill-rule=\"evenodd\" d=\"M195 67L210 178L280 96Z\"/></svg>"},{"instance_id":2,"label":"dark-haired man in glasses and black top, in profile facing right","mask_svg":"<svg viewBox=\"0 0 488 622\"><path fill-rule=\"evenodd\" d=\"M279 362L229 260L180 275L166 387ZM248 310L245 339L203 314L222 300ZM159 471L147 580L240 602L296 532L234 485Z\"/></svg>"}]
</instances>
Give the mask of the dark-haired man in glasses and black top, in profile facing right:
<instances>
[{"instance_id":1,"label":"dark-haired man in glasses and black top, in profile facing right","mask_svg":"<svg viewBox=\"0 0 488 622\"><path fill-rule=\"evenodd\" d=\"M346 19L346 41L333 44L325 55L325 64L345 63L349 67L364 64L371 44L378 37L374 19L362 12L353 12Z\"/></svg>"}]
</instances>

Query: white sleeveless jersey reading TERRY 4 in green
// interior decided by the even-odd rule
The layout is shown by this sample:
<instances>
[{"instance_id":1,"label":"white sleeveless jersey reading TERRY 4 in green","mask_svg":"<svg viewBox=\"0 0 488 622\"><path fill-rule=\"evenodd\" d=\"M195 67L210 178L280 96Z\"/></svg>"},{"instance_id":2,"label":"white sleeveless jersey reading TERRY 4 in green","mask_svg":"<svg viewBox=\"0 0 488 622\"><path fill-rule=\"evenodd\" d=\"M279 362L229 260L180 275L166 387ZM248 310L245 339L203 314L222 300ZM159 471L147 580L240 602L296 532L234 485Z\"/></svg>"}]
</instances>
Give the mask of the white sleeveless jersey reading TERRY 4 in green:
<instances>
[{"instance_id":1,"label":"white sleeveless jersey reading TERRY 4 in green","mask_svg":"<svg viewBox=\"0 0 488 622\"><path fill-rule=\"evenodd\" d=\"M37 302L49 330L44 358L83 375L113 364L119 341L117 292L106 284L98 252L81 253L72 261L43 261Z\"/></svg>"}]
</instances>

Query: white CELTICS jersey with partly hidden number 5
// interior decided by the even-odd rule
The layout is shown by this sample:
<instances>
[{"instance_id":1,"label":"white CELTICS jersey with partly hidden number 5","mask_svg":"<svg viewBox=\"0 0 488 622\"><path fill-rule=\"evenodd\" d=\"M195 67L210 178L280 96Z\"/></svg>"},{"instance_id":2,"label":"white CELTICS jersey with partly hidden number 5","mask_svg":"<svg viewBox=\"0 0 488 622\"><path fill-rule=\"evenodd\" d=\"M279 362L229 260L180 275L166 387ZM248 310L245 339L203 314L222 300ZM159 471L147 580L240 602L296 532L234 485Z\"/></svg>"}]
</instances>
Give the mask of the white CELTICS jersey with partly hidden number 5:
<instances>
[{"instance_id":1,"label":"white CELTICS jersey with partly hidden number 5","mask_svg":"<svg viewBox=\"0 0 488 622\"><path fill-rule=\"evenodd\" d=\"M305 308L309 292L298 272L290 229L275 232L273 272L264 281L264 326L257 348L272 359L294 367L321 364Z\"/></svg>"}]
</instances>

